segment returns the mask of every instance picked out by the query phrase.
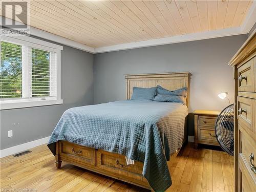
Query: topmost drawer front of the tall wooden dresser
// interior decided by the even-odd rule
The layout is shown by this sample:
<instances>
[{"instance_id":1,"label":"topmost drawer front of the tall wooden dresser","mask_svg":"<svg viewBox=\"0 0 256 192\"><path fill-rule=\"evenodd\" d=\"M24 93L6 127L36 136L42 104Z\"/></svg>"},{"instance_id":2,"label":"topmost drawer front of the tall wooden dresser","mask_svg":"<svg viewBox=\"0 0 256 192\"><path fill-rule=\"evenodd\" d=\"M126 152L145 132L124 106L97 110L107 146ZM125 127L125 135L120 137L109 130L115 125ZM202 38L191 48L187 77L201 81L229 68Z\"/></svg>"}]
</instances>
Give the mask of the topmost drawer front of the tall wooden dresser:
<instances>
[{"instance_id":1,"label":"topmost drawer front of the tall wooden dresser","mask_svg":"<svg viewBox=\"0 0 256 192\"><path fill-rule=\"evenodd\" d=\"M238 91L255 91L253 58L238 68Z\"/></svg>"}]
</instances>

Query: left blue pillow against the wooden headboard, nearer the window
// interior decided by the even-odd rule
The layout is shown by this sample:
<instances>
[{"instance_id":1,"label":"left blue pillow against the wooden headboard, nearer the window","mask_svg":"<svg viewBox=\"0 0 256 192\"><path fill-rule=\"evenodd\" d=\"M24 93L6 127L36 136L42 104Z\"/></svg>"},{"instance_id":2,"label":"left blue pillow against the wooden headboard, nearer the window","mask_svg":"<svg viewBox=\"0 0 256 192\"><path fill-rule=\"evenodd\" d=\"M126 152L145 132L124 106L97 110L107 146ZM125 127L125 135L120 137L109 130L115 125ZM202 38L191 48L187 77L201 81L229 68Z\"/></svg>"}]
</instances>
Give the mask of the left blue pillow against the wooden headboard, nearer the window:
<instances>
[{"instance_id":1,"label":"left blue pillow against the wooden headboard, nearer the window","mask_svg":"<svg viewBox=\"0 0 256 192\"><path fill-rule=\"evenodd\" d=\"M137 88L133 87L132 100L152 100L156 95L157 88Z\"/></svg>"}]
</instances>

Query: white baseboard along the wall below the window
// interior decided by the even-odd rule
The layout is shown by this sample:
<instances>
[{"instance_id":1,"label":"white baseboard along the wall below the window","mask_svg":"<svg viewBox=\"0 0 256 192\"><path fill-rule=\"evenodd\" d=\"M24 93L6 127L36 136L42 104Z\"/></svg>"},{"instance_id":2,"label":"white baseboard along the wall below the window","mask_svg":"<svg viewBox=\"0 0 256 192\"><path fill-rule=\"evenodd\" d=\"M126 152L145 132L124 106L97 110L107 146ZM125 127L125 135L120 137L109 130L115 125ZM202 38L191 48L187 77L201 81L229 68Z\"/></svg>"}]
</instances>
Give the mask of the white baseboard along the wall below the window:
<instances>
[{"instance_id":1,"label":"white baseboard along the wall below the window","mask_svg":"<svg viewBox=\"0 0 256 192\"><path fill-rule=\"evenodd\" d=\"M39 146L42 144L46 144L46 143L48 143L49 139L50 139L50 136L41 138L41 139L37 139L34 141L30 141L28 143L23 143L20 145L12 146L10 148L5 148L4 150L0 151L0 158L6 157L8 155L13 155L15 153L19 153L19 152L22 152L25 150L29 150L30 148L33 148L33 147L36 147L36 146Z\"/></svg>"}]
</instances>

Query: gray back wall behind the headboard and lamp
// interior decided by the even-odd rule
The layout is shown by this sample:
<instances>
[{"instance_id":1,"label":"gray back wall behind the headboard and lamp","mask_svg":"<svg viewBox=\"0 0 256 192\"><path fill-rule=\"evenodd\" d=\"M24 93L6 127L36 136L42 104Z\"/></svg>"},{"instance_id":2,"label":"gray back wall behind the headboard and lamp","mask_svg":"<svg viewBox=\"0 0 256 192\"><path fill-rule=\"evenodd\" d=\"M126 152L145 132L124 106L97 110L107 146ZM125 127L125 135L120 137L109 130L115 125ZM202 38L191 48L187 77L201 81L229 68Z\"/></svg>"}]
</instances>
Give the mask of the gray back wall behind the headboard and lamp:
<instances>
[{"instance_id":1,"label":"gray back wall behind the headboard and lamp","mask_svg":"<svg viewBox=\"0 0 256 192\"><path fill-rule=\"evenodd\" d=\"M233 102L232 68L227 65L247 35L183 42L96 54L94 56L94 103L125 99L124 74L188 71L189 112L221 110L227 100L217 95L228 92ZM189 135L194 135L189 116Z\"/></svg>"}]
</instances>

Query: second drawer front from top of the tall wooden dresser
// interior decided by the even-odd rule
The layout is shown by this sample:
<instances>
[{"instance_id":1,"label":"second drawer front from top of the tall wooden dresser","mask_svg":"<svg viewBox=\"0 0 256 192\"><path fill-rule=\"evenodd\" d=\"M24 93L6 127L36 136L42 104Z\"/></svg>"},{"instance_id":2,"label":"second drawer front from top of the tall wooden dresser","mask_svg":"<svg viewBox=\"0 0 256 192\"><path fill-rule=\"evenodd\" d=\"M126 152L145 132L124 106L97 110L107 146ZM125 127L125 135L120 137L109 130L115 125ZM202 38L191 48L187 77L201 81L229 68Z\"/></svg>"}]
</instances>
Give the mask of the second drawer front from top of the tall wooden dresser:
<instances>
[{"instance_id":1,"label":"second drawer front from top of the tall wooden dresser","mask_svg":"<svg viewBox=\"0 0 256 192\"><path fill-rule=\"evenodd\" d=\"M253 99L238 97L238 123L249 133L253 133ZM254 127L255 129L255 127Z\"/></svg>"}]
</instances>

